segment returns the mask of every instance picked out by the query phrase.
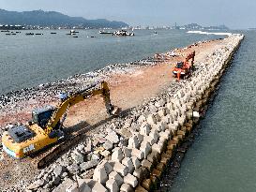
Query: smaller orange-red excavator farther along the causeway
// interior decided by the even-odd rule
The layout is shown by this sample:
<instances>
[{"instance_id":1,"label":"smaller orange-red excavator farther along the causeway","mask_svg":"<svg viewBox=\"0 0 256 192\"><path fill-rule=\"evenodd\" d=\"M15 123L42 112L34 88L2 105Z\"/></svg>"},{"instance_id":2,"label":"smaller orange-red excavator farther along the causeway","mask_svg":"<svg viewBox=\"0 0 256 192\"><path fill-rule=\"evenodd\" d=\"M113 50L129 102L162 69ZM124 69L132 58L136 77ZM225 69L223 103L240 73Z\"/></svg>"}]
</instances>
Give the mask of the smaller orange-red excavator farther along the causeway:
<instances>
[{"instance_id":1,"label":"smaller orange-red excavator farther along the causeway","mask_svg":"<svg viewBox=\"0 0 256 192\"><path fill-rule=\"evenodd\" d=\"M173 75L177 78L178 81L180 78L184 78L191 73L194 64L194 58L195 51L190 52L185 61L177 62L176 66L173 67Z\"/></svg>"}]
</instances>

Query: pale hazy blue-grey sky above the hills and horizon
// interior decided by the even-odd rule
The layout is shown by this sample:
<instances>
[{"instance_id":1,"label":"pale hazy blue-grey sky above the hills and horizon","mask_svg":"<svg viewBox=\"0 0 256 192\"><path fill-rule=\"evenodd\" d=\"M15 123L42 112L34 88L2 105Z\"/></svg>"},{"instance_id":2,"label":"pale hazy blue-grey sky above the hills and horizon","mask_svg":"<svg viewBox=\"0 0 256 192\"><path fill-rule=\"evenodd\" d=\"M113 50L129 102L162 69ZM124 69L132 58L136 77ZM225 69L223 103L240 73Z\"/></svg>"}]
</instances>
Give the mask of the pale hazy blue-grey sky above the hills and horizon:
<instances>
[{"instance_id":1,"label":"pale hazy blue-grey sky above the hills and horizon","mask_svg":"<svg viewBox=\"0 0 256 192\"><path fill-rule=\"evenodd\" d=\"M0 0L8 10L55 10L85 19L104 18L130 25L198 22L235 29L256 27L254 0Z\"/></svg>"}]
</instances>

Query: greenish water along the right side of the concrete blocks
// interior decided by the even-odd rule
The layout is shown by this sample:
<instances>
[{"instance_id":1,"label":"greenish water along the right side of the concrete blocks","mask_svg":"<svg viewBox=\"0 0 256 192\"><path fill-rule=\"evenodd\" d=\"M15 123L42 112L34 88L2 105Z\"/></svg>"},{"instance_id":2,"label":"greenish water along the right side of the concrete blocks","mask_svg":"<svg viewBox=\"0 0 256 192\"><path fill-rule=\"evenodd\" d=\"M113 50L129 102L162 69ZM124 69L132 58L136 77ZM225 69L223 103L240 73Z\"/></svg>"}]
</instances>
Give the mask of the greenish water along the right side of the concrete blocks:
<instances>
[{"instance_id":1,"label":"greenish water along the right side of the concrete blocks","mask_svg":"<svg viewBox=\"0 0 256 192\"><path fill-rule=\"evenodd\" d=\"M256 191L256 32L242 33L246 38L169 191Z\"/></svg>"}]
</instances>

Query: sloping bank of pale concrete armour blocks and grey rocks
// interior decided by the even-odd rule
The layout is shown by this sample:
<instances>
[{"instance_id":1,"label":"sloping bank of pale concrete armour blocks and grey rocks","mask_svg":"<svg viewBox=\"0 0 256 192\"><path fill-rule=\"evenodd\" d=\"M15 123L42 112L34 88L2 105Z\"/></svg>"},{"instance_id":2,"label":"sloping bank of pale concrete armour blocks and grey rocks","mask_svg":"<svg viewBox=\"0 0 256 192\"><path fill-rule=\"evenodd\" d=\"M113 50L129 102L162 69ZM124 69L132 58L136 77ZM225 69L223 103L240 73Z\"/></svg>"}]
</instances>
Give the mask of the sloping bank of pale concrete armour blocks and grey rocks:
<instances>
[{"instance_id":1,"label":"sloping bank of pale concrete armour blocks and grey rocks","mask_svg":"<svg viewBox=\"0 0 256 192\"><path fill-rule=\"evenodd\" d=\"M144 103L136 111L131 112L127 119L113 120L125 121L127 126L115 129L116 126L111 125L113 122L106 125L101 136L98 134L94 140L84 141L49 168L42 170L37 181L28 186L28 189L154 189L173 155L186 151L186 148L180 146L199 122L199 118L194 114L200 113L207 104L242 39L241 35L225 38L220 49L210 52L203 61L196 63L191 78L176 83L166 92ZM152 103L156 107L154 111L139 113L142 108ZM130 119L140 126L130 126ZM93 152L92 145L98 146ZM93 154L93 159L84 162L83 154L88 151ZM100 160L99 155L104 156L104 159ZM70 158L79 166L70 165ZM83 174L79 173L81 170Z\"/></svg>"}]
</instances>

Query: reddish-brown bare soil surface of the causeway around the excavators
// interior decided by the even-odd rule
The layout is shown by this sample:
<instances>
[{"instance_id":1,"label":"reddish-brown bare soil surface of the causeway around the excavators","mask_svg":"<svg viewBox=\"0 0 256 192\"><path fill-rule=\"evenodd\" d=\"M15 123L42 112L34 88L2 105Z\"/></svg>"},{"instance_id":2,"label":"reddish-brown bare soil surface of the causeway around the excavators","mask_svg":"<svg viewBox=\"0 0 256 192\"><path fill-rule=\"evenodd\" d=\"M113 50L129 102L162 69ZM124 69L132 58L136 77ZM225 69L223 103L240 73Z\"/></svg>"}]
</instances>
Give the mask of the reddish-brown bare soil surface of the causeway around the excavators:
<instances>
[{"instance_id":1,"label":"reddish-brown bare soil surface of the causeway around the excavators","mask_svg":"<svg viewBox=\"0 0 256 192\"><path fill-rule=\"evenodd\" d=\"M122 111L132 111L133 108L147 102L151 97L157 96L170 83L176 81L172 73L173 65L177 61L183 61L188 52L195 51L195 63L200 63L207 54L218 49L222 43L221 39L195 43L187 48L174 50L174 56L164 57L165 59L154 65L138 66L126 72L115 72L106 76L105 81L109 83L113 105L118 106ZM165 54L162 53L162 55ZM35 107L45 104L56 105L57 102L57 97L51 98L42 95L37 100L29 99L14 102L16 106L19 106L19 110L13 106L13 103L11 107L7 104L2 109L0 108L2 113L0 127L4 131L8 125L25 123L30 120L31 111ZM12 111L12 109L16 110ZM95 96L69 109L64 126L71 132L83 129L87 136L93 137L94 133L100 132L97 128L98 125L102 125L108 120L103 99L100 96ZM28 185L35 180L38 169L37 165L33 163L33 158L27 157L17 160L8 157L3 152L2 147L0 151L2 151L0 154L0 190L11 190L11 188Z\"/></svg>"}]
</instances>

